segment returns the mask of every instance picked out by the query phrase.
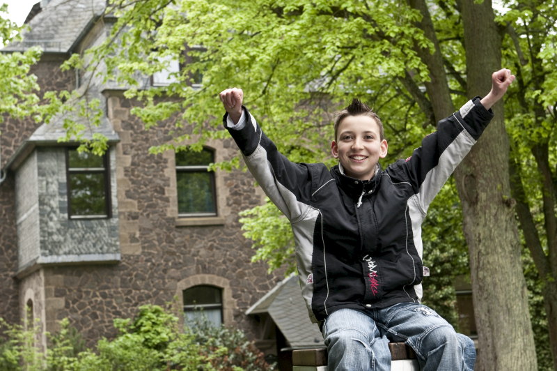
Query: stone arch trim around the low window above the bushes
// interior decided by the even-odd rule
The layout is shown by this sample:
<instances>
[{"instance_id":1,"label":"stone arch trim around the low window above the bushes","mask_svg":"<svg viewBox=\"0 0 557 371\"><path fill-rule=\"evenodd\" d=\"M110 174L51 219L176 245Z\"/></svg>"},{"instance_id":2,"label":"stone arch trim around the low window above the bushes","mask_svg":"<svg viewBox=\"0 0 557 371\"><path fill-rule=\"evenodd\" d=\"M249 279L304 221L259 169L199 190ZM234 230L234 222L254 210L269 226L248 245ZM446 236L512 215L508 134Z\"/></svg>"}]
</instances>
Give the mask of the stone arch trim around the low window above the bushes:
<instances>
[{"instance_id":1,"label":"stone arch trim around the low window above the bushes","mask_svg":"<svg viewBox=\"0 0 557 371\"><path fill-rule=\"evenodd\" d=\"M236 308L236 301L232 298L232 289L230 289L230 281L226 278L220 277L219 275L212 274L198 274L192 275L191 277L185 278L178 282L176 285L176 295L178 295L178 300L180 302L180 308L184 306L184 296L182 292L190 287L199 285L211 285L215 287L220 287L222 289L222 314L223 314L223 324L226 326L235 326L233 321L233 312ZM184 317L180 316L180 325L183 326Z\"/></svg>"}]
</instances>

